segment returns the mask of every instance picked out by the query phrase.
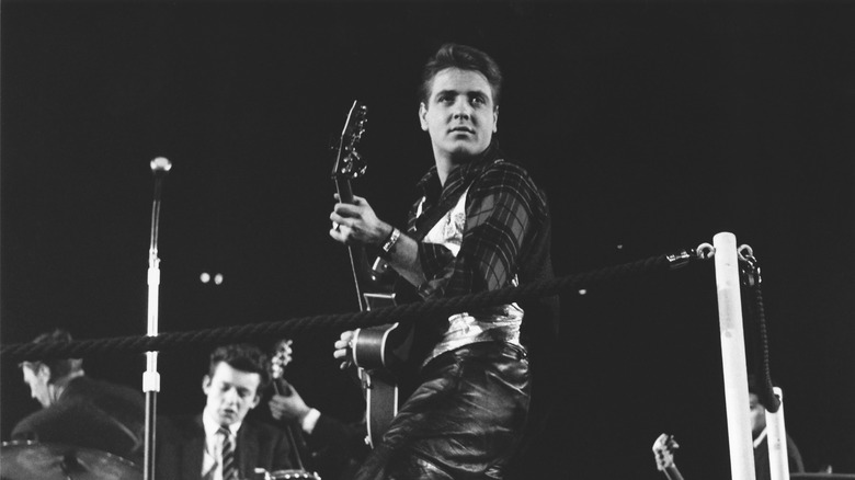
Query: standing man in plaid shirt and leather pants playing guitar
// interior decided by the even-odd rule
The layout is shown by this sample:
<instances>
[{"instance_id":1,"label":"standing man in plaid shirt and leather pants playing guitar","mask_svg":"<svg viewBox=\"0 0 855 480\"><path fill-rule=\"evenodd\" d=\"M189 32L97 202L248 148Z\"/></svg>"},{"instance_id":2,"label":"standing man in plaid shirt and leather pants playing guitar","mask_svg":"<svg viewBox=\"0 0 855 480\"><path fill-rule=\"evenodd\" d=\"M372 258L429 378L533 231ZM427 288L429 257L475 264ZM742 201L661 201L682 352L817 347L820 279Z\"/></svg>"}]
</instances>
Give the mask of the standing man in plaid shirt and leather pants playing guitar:
<instances>
[{"instance_id":1,"label":"standing man in plaid shirt and leather pants playing guitar","mask_svg":"<svg viewBox=\"0 0 855 480\"><path fill-rule=\"evenodd\" d=\"M423 300L551 277L546 197L505 159L493 135L498 65L476 48L447 44L422 80L419 122L434 165L418 184L408 228L380 220L355 197L333 207L330 236L376 249L404 281L399 286ZM503 478L525 432L533 384L527 347L537 338L557 338L554 298L420 321L418 387L356 478ZM335 342L337 358L350 357L352 339L344 332Z\"/></svg>"}]
</instances>

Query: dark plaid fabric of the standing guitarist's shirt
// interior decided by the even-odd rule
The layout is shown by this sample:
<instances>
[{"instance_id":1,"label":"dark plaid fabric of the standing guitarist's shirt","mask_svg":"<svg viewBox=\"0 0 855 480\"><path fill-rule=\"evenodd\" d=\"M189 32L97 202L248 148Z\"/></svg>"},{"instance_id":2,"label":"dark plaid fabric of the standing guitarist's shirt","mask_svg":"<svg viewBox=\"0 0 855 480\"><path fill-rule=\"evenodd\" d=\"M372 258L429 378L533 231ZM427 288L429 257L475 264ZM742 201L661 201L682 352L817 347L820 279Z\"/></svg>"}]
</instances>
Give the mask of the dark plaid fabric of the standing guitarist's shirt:
<instances>
[{"instance_id":1,"label":"dark plaid fabric of the standing guitarist's shirt","mask_svg":"<svg viewBox=\"0 0 855 480\"><path fill-rule=\"evenodd\" d=\"M495 147L452 171L441 188L436 168L419 182L423 196L413 205L408 229L431 208L444 208L465 188L466 227L455 258L443 245L419 243L419 256L428 284L424 298L453 297L509 286L518 273L522 252L548 215L546 198L521 167L500 160ZM421 208L419 205L421 204ZM421 210L419 218L417 212ZM426 228L430 228L428 226Z\"/></svg>"}]
</instances>

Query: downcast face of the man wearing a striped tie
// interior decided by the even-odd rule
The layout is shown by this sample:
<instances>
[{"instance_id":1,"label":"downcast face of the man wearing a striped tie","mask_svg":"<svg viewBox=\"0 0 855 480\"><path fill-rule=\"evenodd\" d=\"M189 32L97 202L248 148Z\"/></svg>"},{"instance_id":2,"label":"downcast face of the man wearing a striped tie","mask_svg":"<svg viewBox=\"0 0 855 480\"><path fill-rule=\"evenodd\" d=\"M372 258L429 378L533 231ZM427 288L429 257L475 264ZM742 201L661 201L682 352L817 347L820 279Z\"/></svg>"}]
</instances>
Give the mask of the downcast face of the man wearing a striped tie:
<instances>
[{"instance_id":1,"label":"downcast face of the man wearing a striped tie","mask_svg":"<svg viewBox=\"0 0 855 480\"><path fill-rule=\"evenodd\" d=\"M247 413L259 404L260 384L259 374L238 370L220 362L214 375L205 375L202 380L202 390L208 397L205 414L223 426L243 421Z\"/></svg>"}]
</instances>

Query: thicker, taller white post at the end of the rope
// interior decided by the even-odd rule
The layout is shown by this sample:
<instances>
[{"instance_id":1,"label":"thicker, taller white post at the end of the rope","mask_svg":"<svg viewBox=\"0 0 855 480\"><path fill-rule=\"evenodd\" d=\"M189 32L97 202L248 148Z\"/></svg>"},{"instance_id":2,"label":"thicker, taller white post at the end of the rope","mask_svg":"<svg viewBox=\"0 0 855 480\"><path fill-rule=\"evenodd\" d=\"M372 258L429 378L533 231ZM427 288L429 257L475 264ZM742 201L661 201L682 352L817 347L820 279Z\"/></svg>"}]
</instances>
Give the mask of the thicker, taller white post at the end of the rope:
<instances>
[{"instance_id":1,"label":"thicker, taller white post at the end of the rope","mask_svg":"<svg viewBox=\"0 0 855 480\"><path fill-rule=\"evenodd\" d=\"M730 444L730 473L732 480L754 480L737 237L733 233L720 232L713 237L713 247L716 249L714 258Z\"/></svg>"}]
</instances>

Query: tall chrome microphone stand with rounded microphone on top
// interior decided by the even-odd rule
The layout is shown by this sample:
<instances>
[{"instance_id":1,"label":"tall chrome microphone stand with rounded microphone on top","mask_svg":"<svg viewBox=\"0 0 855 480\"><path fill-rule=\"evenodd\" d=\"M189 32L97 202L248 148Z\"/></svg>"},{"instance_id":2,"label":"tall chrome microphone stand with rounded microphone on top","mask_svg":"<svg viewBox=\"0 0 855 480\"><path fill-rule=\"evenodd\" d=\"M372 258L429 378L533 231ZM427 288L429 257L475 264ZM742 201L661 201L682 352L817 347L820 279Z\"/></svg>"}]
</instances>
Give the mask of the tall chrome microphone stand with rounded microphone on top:
<instances>
[{"instance_id":1,"label":"tall chrome microphone stand with rounded microphone on top","mask_svg":"<svg viewBox=\"0 0 855 480\"><path fill-rule=\"evenodd\" d=\"M172 163L163 157L151 160L155 174L155 199L151 204L151 244L148 249L148 336L158 335L158 304L160 287L160 259L158 259L158 222L160 220L160 192L163 179ZM155 479L155 425L157 419L157 395L160 391L158 353L146 352L147 369L142 374L142 391L146 393L146 444L142 478Z\"/></svg>"}]
</instances>

